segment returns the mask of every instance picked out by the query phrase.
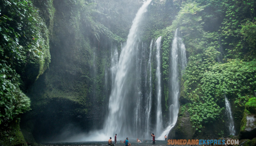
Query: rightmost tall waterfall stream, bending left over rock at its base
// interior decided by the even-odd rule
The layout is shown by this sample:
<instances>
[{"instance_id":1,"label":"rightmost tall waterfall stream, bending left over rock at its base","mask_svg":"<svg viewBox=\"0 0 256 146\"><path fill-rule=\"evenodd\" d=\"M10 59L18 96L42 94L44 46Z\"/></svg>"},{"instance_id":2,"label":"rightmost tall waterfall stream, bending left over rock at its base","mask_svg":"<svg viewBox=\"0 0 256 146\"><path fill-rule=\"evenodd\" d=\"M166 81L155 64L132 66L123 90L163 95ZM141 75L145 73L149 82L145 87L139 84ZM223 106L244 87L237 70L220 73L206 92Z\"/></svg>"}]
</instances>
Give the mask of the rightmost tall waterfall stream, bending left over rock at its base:
<instances>
[{"instance_id":1,"label":"rightmost tall waterfall stream, bending left over rock at its base","mask_svg":"<svg viewBox=\"0 0 256 146\"><path fill-rule=\"evenodd\" d=\"M168 135L170 130L175 126L178 119L178 112L180 108L179 97L180 97L180 84L178 78L182 76L187 59L185 45L181 39L181 32L179 28L176 29L171 49L171 76L170 76L170 124L165 128L162 134L158 137L159 140L164 140L164 136ZM178 68L180 65L180 70Z\"/></svg>"}]
</instances>

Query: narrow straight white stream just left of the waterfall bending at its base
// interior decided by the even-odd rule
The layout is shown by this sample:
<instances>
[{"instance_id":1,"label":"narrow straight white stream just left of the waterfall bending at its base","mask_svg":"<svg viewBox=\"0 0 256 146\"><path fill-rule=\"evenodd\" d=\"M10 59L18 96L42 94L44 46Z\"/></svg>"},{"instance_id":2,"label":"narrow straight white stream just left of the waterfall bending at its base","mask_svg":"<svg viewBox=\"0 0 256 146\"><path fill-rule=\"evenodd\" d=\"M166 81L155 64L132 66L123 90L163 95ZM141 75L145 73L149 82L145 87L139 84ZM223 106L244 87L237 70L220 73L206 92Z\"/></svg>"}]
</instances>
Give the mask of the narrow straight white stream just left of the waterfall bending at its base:
<instances>
[{"instance_id":1,"label":"narrow straight white stream just left of the waterfall bending at its base","mask_svg":"<svg viewBox=\"0 0 256 146\"><path fill-rule=\"evenodd\" d=\"M157 41L155 41L155 47L157 48L157 126L156 126L156 134L160 135L162 133L163 125L162 125L162 106L161 106L161 73L160 73L160 49L161 49L161 38L159 37Z\"/></svg>"}]
</instances>

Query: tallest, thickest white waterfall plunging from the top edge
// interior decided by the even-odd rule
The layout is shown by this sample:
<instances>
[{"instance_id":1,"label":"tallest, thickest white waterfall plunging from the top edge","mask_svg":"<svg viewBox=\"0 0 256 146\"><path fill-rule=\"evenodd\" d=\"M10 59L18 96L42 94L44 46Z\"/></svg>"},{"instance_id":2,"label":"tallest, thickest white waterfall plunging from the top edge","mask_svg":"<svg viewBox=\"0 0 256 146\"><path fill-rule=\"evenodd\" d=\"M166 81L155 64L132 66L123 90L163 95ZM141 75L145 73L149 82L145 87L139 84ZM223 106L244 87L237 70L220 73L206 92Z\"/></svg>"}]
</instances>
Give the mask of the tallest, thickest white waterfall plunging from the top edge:
<instances>
[{"instance_id":1,"label":"tallest, thickest white waterfall plunging from the top edge","mask_svg":"<svg viewBox=\"0 0 256 146\"><path fill-rule=\"evenodd\" d=\"M136 130L133 120L136 115L136 103L141 98L141 92L138 88L140 84L141 61L138 53L138 27L143 14L151 0L146 1L136 14L132 22L131 29L127 38L126 45L121 50L117 66L116 77L114 80L112 92L109 98L109 115L105 120L104 133L106 135L133 136ZM139 66L137 66L139 64ZM137 89L136 89L137 88ZM139 109L138 109L139 110ZM139 113L139 111L138 111ZM135 120L136 121L136 120Z\"/></svg>"}]
</instances>

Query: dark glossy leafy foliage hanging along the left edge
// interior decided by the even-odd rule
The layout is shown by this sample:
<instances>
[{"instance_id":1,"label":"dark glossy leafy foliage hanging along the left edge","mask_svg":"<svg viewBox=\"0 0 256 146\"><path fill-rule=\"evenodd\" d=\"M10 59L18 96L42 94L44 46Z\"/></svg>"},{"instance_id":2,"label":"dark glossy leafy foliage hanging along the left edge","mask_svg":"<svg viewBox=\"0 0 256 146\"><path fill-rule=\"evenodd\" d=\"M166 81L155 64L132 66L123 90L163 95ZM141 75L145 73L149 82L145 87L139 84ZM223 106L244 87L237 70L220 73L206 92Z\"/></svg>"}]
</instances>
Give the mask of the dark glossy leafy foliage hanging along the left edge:
<instances>
[{"instance_id":1,"label":"dark glossy leafy foliage hanging along the left edge","mask_svg":"<svg viewBox=\"0 0 256 146\"><path fill-rule=\"evenodd\" d=\"M0 5L0 124L29 110L30 101L19 88L15 69L38 66L37 78L49 66L49 40L45 23L29 0L1 0Z\"/></svg>"}]
</instances>

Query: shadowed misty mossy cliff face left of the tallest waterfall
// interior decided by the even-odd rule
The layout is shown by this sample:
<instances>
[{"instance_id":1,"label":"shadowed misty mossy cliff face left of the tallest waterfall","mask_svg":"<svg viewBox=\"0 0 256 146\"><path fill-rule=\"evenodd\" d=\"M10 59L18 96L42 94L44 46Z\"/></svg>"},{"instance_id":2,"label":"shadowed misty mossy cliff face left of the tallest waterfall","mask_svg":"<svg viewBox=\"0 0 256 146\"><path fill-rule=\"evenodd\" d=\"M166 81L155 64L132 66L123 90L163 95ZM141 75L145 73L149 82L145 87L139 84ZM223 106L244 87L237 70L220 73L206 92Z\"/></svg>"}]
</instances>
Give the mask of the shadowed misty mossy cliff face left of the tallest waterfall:
<instances>
[{"instance_id":1,"label":"shadowed misty mossy cliff face left of the tallest waterfall","mask_svg":"<svg viewBox=\"0 0 256 146\"><path fill-rule=\"evenodd\" d=\"M115 25L120 19L114 17L128 14L128 9L136 9L140 3L91 2L98 4L85 0L34 1L52 30L52 58L49 69L27 89L32 110L21 122L27 141L53 141L103 126L111 90L110 50L113 46L120 50L124 39L118 35L127 36L129 27L125 27L135 12L123 16L118 29ZM105 4L113 9L105 9ZM122 4L127 8L116 7ZM102 15L103 11L109 16Z\"/></svg>"}]
</instances>

